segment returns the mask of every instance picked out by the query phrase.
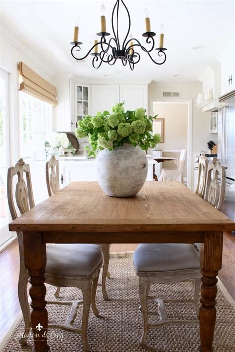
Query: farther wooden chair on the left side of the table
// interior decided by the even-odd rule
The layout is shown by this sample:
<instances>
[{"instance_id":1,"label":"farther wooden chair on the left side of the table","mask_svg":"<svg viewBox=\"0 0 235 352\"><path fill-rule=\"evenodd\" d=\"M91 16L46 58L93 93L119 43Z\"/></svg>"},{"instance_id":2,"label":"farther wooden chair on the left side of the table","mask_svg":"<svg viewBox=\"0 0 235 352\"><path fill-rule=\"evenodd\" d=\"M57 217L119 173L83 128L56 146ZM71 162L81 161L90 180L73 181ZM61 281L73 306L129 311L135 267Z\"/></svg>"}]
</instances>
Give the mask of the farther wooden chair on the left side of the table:
<instances>
[{"instance_id":1,"label":"farther wooden chair on the left side of the table","mask_svg":"<svg viewBox=\"0 0 235 352\"><path fill-rule=\"evenodd\" d=\"M54 193L59 191L59 161L53 155L49 161L46 162L46 183L48 195L51 197ZM102 294L104 300L108 300L108 295L106 291L106 278L110 278L110 273L108 271L109 258L110 258L110 244L100 244L103 256L103 272L102 272ZM100 284L98 284L100 285ZM60 287L55 291L55 296L59 297Z\"/></svg>"}]
</instances>

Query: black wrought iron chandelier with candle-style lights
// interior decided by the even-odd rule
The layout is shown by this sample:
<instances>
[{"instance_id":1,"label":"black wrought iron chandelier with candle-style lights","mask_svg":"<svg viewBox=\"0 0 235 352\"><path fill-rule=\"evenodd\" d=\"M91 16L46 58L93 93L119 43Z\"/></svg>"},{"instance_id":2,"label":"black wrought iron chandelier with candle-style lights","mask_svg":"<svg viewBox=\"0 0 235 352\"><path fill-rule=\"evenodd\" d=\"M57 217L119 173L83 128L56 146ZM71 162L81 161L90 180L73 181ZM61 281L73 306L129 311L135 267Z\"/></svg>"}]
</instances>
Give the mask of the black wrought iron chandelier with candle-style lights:
<instances>
[{"instance_id":1,"label":"black wrought iron chandelier with candle-style lights","mask_svg":"<svg viewBox=\"0 0 235 352\"><path fill-rule=\"evenodd\" d=\"M119 33L118 33L119 7L121 3L127 12L128 21L129 21L128 31L126 33L126 36L122 44L120 43ZM115 16L116 16L116 25L115 25ZM82 58L76 57L76 53L81 50L81 44L82 44L82 42L78 41L79 27L78 25L76 25L74 27L74 39L73 39L73 42L70 43L72 44L72 49L71 49L72 56L76 60L81 61L81 60L84 60L88 55L92 55L93 56L92 66L96 69L98 69L101 66L102 62L108 63L109 65L112 66L115 64L117 59L119 59L121 60L123 66L126 66L127 63L129 62L130 69L133 71L135 64L140 61L140 54L135 51L135 49L139 47L149 55L150 59L156 65L162 65L166 61L165 51L167 49L163 47L163 39L164 39L163 25L161 25L161 33L159 36L159 48L155 49L157 50L157 55L159 56L160 60L158 58L158 60L156 59L155 61L150 55L150 52L152 52L152 50L154 50L154 47L155 47L154 36L156 35L156 33L151 32L150 18L147 13L145 18L146 32L143 33L142 36L146 38L146 43L149 46L149 49L144 47L139 42L138 39L131 38L132 35L130 34L130 25L131 25L130 14L123 0L116 0L116 3L112 11L111 22L112 22L113 37L111 37L107 41L106 37L108 37L110 33L106 32L105 6L102 5L101 6L101 32L97 33L97 36L101 37L101 39L100 41L95 40L94 45L87 52L87 54ZM98 52L99 46L100 46L100 50Z\"/></svg>"}]
</instances>

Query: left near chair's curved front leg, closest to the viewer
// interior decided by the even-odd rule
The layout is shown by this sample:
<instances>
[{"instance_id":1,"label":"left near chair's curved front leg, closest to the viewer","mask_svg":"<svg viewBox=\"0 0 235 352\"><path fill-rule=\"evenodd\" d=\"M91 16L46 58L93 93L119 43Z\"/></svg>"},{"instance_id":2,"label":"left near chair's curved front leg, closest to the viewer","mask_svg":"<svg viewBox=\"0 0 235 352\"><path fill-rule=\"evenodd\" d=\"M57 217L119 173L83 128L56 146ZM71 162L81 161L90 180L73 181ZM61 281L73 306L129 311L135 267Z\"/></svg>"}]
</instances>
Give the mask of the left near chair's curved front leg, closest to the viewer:
<instances>
[{"instance_id":1,"label":"left near chair's curved front leg, closest to the viewer","mask_svg":"<svg viewBox=\"0 0 235 352\"><path fill-rule=\"evenodd\" d=\"M90 351L90 346L87 339L87 329L88 329L88 318L91 306L91 291L92 282L91 280L84 281L82 287L83 295L83 313L82 313L82 343L85 352Z\"/></svg>"}]
</instances>

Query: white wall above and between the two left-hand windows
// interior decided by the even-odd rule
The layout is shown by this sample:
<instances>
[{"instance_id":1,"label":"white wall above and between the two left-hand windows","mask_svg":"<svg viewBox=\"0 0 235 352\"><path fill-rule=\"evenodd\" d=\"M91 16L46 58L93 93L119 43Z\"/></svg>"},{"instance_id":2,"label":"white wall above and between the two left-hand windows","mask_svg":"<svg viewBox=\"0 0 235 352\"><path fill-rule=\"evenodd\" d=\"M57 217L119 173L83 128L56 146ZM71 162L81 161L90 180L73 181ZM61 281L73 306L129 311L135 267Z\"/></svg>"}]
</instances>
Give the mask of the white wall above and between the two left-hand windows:
<instances>
[{"instance_id":1,"label":"white wall above and between the two left-hand windows","mask_svg":"<svg viewBox=\"0 0 235 352\"><path fill-rule=\"evenodd\" d=\"M2 28L1 28L2 31ZM10 114L10 163L13 165L19 155L19 84L18 63L23 61L32 70L54 84L53 73L41 58L37 58L23 44L15 43L4 33L0 34L0 67L9 73L9 114Z\"/></svg>"}]
</instances>

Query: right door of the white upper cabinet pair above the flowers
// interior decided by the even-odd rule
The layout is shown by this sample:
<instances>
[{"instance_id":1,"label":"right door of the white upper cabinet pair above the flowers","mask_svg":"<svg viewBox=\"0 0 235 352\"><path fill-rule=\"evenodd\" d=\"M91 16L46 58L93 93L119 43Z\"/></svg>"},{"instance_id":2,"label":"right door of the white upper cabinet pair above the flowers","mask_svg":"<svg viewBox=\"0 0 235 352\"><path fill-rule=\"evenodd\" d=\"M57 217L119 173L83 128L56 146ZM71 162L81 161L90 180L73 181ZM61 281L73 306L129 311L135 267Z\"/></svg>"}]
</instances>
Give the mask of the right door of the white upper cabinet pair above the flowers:
<instances>
[{"instance_id":1,"label":"right door of the white upper cabinet pair above the flowers","mask_svg":"<svg viewBox=\"0 0 235 352\"><path fill-rule=\"evenodd\" d=\"M137 107L143 107L148 112L148 85L120 85L120 102L123 101L125 102L125 110L135 110Z\"/></svg>"}]
</instances>

